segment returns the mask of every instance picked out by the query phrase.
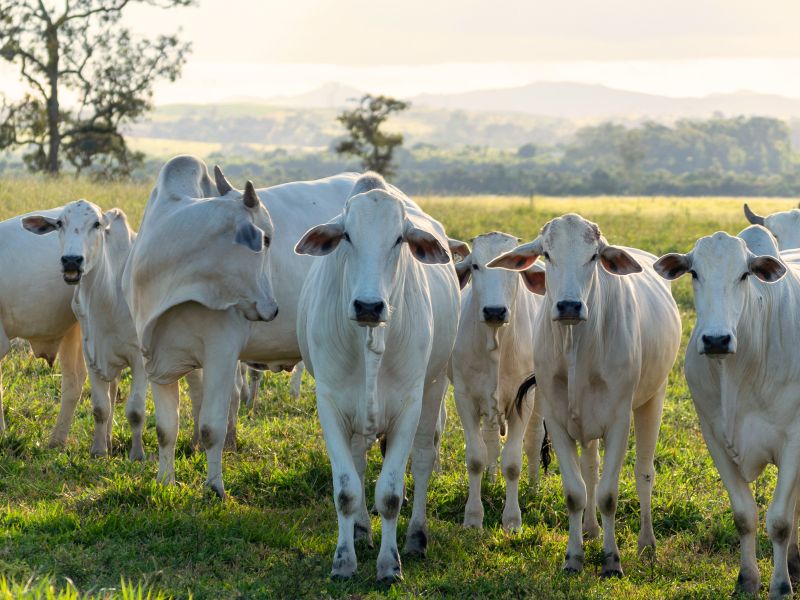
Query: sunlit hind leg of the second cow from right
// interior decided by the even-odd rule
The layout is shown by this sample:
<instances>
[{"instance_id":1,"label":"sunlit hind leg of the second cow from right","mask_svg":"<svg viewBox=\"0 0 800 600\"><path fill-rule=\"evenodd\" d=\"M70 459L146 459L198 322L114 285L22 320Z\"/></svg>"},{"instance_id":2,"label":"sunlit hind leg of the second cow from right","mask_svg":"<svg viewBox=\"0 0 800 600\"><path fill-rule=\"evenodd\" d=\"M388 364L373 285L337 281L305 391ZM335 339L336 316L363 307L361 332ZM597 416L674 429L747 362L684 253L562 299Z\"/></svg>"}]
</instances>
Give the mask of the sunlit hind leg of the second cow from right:
<instances>
[{"instance_id":1,"label":"sunlit hind leg of the second cow from right","mask_svg":"<svg viewBox=\"0 0 800 600\"><path fill-rule=\"evenodd\" d=\"M633 430L636 435L636 465L633 468L636 478L636 494L639 496L639 541L638 550L656 547L656 534L653 531L651 499L656 472L653 458L656 454L658 430L661 427L661 411L664 406L666 382L661 390L647 403L633 411Z\"/></svg>"}]
</instances>

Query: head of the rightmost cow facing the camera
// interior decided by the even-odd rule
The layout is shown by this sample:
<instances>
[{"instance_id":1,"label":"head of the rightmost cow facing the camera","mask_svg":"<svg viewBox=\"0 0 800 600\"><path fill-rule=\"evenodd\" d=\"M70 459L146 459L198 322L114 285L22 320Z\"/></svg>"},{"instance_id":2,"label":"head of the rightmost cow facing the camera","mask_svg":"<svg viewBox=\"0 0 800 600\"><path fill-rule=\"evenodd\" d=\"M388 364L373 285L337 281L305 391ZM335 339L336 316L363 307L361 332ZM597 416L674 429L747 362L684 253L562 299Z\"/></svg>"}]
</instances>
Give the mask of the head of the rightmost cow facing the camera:
<instances>
[{"instance_id":1,"label":"head of the rightmost cow facing the camera","mask_svg":"<svg viewBox=\"0 0 800 600\"><path fill-rule=\"evenodd\" d=\"M772 256L756 256L744 240L718 231L700 238L688 254L666 254L653 265L664 279L689 273L697 311L697 352L722 358L736 352L736 329L750 293L750 276L772 283L786 267Z\"/></svg>"}]
</instances>

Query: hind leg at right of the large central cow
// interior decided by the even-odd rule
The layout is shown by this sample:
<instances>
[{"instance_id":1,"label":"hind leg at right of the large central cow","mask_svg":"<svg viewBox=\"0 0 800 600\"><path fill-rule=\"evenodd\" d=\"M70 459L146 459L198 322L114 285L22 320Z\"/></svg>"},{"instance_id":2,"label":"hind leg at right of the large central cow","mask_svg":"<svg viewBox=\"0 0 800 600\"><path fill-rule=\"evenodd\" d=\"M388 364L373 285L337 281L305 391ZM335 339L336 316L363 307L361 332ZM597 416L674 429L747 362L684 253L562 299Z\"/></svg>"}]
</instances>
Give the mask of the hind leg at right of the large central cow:
<instances>
[{"instance_id":1,"label":"hind leg at right of the large central cow","mask_svg":"<svg viewBox=\"0 0 800 600\"><path fill-rule=\"evenodd\" d=\"M418 556L425 556L425 549L428 546L428 517L426 514L428 482L433 473L433 463L436 461L433 438L439 420L439 407L444 401L446 390L447 377L444 373L439 373L439 377L422 394L422 409L417 417L419 425L416 425L417 421L413 417L409 417L410 422L417 430L414 435L411 459L411 475L414 477L414 506L411 510L411 520L408 523L406 544L403 550ZM408 409L407 412L413 413L414 411ZM405 432L405 429L402 431ZM412 427L410 432L413 431ZM397 435L401 435L399 428Z\"/></svg>"}]
</instances>

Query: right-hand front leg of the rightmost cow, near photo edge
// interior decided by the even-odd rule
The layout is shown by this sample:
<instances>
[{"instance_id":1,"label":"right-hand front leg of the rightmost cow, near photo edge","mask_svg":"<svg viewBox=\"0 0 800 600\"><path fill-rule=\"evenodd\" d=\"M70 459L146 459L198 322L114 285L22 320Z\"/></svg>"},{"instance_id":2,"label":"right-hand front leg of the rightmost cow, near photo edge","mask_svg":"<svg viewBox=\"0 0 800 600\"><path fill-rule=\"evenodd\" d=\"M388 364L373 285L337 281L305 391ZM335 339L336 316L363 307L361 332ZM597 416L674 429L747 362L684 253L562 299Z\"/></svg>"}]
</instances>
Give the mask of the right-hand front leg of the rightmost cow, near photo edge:
<instances>
[{"instance_id":1,"label":"right-hand front leg of the rightmost cow, near photo edge","mask_svg":"<svg viewBox=\"0 0 800 600\"><path fill-rule=\"evenodd\" d=\"M791 597L792 584L789 580L789 540L794 521L798 469L800 468L800 448L789 444L778 465L778 483L772 503L767 509L767 533L772 540L772 579L769 583L770 598Z\"/></svg>"}]
</instances>

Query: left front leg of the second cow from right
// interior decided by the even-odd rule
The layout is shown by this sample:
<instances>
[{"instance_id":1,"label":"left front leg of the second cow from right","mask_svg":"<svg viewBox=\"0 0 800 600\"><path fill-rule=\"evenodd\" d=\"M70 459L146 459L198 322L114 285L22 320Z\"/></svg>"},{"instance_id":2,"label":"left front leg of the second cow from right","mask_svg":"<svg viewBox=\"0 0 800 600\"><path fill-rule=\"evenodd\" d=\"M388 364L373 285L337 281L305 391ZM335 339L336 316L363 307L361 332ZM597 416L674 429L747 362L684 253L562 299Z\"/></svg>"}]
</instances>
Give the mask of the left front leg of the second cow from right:
<instances>
[{"instance_id":1,"label":"left front leg of the second cow from right","mask_svg":"<svg viewBox=\"0 0 800 600\"><path fill-rule=\"evenodd\" d=\"M547 429L558 458L561 483L569 513L569 540L564 557L564 571L579 573L583 570L583 510L586 508L586 486L578 468L578 450L561 423L548 421ZM584 450L585 453L585 450Z\"/></svg>"}]
</instances>

